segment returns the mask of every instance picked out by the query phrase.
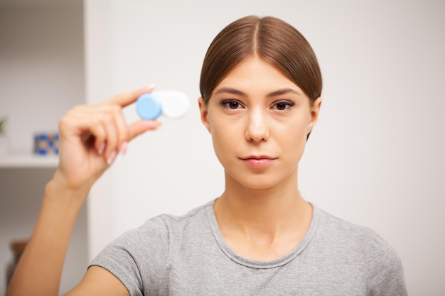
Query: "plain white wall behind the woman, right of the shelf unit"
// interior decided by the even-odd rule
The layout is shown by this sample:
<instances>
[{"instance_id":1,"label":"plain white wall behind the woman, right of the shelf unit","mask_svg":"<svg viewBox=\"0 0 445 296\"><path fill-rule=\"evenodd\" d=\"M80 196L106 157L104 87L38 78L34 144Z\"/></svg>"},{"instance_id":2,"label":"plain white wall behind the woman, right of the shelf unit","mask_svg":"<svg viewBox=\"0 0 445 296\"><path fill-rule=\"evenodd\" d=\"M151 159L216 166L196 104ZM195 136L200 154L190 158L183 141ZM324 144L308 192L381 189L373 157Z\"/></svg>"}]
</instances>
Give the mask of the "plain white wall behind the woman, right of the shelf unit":
<instances>
[{"instance_id":1,"label":"plain white wall behind the woman, right of the shelf unit","mask_svg":"<svg viewBox=\"0 0 445 296\"><path fill-rule=\"evenodd\" d=\"M324 75L301 192L389 241L409 295L445 294L444 1L90 0L86 9L90 103L156 83L197 106L201 62L227 23L272 15L298 28ZM135 120L134 107L126 115ZM183 214L222 192L198 108L162 121L92 190L91 256L151 216Z\"/></svg>"}]
</instances>

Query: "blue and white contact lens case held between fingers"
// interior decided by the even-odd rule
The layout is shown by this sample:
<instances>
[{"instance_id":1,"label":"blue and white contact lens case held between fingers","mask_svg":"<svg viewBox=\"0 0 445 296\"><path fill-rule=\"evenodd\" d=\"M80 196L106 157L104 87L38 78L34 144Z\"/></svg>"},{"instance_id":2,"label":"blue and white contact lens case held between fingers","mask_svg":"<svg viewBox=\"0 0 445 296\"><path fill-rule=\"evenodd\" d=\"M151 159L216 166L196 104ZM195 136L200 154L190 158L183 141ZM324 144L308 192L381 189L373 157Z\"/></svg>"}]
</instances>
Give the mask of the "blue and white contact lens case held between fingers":
<instances>
[{"instance_id":1,"label":"blue and white contact lens case held between fingers","mask_svg":"<svg viewBox=\"0 0 445 296\"><path fill-rule=\"evenodd\" d=\"M190 109L190 101L183 92L156 90L142 94L136 100L136 111L141 119L156 119L163 115L172 119L184 116Z\"/></svg>"}]
</instances>

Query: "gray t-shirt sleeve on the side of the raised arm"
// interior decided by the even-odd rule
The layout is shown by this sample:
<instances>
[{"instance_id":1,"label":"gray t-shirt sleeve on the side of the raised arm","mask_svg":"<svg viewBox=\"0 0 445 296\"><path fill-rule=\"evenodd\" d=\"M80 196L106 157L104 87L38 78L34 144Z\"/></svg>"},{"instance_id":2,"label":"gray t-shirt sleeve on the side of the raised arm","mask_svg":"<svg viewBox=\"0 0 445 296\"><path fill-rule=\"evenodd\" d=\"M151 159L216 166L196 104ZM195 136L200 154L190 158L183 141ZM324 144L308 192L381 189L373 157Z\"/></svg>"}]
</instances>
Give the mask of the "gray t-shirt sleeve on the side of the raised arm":
<instances>
[{"instance_id":1,"label":"gray t-shirt sleeve on the side of the raised arm","mask_svg":"<svg viewBox=\"0 0 445 296\"><path fill-rule=\"evenodd\" d=\"M168 228L157 216L109 243L90 266L97 265L116 276L131 296L156 292L168 254ZM151 292L150 292L151 291Z\"/></svg>"}]
</instances>

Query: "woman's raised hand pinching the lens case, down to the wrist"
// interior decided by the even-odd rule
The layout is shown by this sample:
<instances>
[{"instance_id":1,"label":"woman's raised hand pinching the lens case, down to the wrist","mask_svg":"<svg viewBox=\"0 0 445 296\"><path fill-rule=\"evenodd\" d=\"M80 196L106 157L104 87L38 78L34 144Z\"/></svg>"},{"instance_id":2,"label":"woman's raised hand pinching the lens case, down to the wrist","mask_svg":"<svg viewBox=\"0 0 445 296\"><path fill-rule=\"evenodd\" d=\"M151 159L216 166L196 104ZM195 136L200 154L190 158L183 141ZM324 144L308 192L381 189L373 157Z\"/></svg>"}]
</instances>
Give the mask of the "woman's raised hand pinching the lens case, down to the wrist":
<instances>
[{"instance_id":1,"label":"woman's raised hand pinching the lens case, down to the wrist","mask_svg":"<svg viewBox=\"0 0 445 296\"><path fill-rule=\"evenodd\" d=\"M112 164L125 153L134 137L158 128L158 121L139 120L127 124L122 109L153 87L119 94L94 106L76 106L60 119L60 163L53 181L70 190L89 190Z\"/></svg>"}]
</instances>

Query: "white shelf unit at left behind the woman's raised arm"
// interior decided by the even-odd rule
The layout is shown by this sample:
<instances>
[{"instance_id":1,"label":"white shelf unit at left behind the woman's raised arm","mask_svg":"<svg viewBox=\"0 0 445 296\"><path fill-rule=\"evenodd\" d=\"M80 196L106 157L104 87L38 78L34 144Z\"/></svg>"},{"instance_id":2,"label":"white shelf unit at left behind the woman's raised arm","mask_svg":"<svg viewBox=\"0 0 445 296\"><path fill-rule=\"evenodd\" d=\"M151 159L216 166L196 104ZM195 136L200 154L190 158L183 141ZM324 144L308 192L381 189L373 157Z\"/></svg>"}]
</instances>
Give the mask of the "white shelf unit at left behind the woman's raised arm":
<instances>
[{"instance_id":1,"label":"white shelf unit at left behind the woman's raised arm","mask_svg":"<svg viewBox=\"0 0 445 296\"><path fill-rule=\"evenodd\" d=\"M0 155L0 295L6 291L11 241L31 236L57 156L31 151L33 133L54 131L72 106L85 104L82 0L0 1L0 117L9 152ZM80 211L60 283L79 283L88 264L87 209Z\"/></svg>"}]
</instances>

